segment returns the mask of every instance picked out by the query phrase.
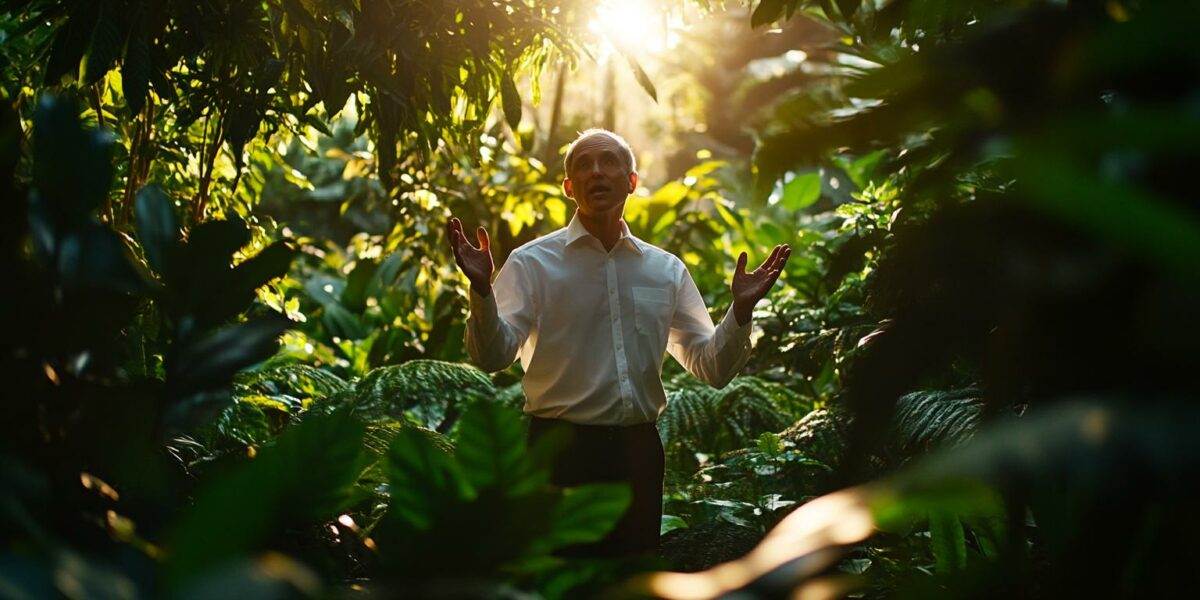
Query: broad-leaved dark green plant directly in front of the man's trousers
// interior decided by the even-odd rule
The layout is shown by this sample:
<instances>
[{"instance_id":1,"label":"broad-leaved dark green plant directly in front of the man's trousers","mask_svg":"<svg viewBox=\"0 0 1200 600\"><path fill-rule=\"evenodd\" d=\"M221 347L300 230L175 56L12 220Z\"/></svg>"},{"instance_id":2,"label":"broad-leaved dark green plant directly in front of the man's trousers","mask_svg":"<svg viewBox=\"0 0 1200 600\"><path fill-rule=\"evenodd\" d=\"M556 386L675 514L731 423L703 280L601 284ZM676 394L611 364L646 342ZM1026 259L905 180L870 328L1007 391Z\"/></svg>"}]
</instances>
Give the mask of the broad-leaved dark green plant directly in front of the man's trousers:
<instances>
[{"instance_id":1,"label":"broad-leaved dark green plant directly in front of the man's trousers","mask_svg":"<svg viewBox=\"0 0 1200 600\"><path fill-rule=\"evenodd\" d=\"M389 450L391 508L373 532L394 576L526 577L557 565L550 552L600 539L629 504L629 490L548 487L546 436L527 449L516 413L476 402L457 430L456 457L402 428Z\"/></svg>"}]
</instances>

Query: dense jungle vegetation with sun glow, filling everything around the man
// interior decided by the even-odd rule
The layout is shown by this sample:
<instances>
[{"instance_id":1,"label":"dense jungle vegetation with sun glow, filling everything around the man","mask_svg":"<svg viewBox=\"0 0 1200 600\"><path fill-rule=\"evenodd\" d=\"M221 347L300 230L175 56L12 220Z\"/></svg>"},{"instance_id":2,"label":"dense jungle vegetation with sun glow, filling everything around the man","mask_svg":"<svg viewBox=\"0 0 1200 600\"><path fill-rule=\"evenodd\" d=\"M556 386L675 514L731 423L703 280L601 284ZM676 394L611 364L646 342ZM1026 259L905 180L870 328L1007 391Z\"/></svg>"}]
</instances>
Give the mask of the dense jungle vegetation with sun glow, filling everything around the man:
<instances>
[{"instance_id":1,"label":"dense jungle vegetation with sun glow, filling everything around the man","mask_svg":"<svg viewBox=\"0 0 1200 600\"><path fill-rule=\"evenodd\" d=\"M0 590L1194 595L1198 19L0 1ZM715 317L727 257L796 248L738 378L668 361L629 560L556 553L629 491L548 484L563 440L526 443L518 366L467 364L443 233L499 262L565 224L596 125Z\"/></svg>"}]
</instances>

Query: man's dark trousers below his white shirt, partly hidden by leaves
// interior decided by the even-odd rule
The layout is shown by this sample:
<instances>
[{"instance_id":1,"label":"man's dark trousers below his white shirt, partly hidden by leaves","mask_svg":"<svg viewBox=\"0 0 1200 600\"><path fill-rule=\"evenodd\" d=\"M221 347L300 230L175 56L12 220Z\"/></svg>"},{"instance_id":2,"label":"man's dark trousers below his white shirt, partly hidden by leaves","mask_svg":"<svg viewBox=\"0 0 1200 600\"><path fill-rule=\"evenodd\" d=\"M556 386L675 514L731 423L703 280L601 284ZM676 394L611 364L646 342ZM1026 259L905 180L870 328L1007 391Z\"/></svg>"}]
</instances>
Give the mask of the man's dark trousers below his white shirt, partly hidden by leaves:
<instances>
[{"instance_id":1,"label":"man's dark trousers below his white shirt, partly hidden by leaves","mask_svg":"<svg viewBox=\"0 0 1200 600\"><path fill-rule=\"evenodd\" d=\"M571 557L620 557L655 552L662 522L662 442L653 422L612 426L576 425L534 416L529 443L551 428L564 428L569 440L554 460L551 481L559 486L628 482L632 502L602 540L571 546Z\"/></svg>"}]
</instances>

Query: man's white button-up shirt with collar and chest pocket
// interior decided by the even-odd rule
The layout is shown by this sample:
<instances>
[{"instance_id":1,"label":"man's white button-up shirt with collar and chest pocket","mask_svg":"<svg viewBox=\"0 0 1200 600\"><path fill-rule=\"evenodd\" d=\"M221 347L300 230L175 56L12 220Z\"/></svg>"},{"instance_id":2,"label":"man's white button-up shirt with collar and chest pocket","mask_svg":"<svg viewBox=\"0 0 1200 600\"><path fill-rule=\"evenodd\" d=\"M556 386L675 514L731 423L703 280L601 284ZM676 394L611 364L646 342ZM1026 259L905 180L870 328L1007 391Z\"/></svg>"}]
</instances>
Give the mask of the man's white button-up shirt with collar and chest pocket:
<instances>
[{"instance_id":1,"label":"man's white button-up shirt with collar and chest pocket","mask_svg":"<svg viewBox=\"0 0 1200 600\"><path fill-rule=\"evenodd\" d=\"M466 343L485 371L521 356L526 414L634 425L666 408L662 353L722 388L750 358L733 308L713 326L678 257L629 233L606 252L578 221L509 254L487 298L470 292Z\"/></svg>"}]
</instances>

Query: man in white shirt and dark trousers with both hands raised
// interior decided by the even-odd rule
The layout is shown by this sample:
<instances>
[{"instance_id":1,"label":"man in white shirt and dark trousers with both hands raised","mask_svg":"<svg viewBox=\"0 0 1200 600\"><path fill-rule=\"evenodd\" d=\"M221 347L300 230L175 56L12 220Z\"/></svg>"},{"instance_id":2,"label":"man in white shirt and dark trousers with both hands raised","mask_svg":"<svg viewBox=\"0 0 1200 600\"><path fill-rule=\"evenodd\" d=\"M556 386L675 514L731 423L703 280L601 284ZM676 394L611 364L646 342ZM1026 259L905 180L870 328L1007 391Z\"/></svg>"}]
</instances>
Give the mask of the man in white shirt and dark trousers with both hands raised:
<instances>
[{"instance_id":1,"label":"man in white shirt and dark trousers with both hands raised","mask_svg":"<svg viewBox=\"0 0 1200 600\"><path fill-rule=\"evenodd\" d=\"M530 439L565 427L571 442L553 481L628 481L632 503L583 556L653 552L662 517L662 444L655 420L666 407L662 354L721 388L750 356L750 316L779 278L791 248L775 247L755 271L745 252L733 275L733 304L713 325L683 262L629 233L625 199L637 187L629 144L588 130L564 160L563 191L577 210L570 224L509 256L494 284L487 232L479 247L451 217L455 262L470 280L467 350L486 371L521 356Z\"/></svg>"}]
</instances>

